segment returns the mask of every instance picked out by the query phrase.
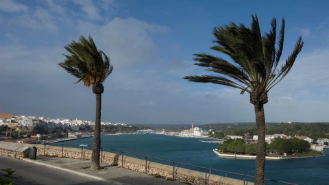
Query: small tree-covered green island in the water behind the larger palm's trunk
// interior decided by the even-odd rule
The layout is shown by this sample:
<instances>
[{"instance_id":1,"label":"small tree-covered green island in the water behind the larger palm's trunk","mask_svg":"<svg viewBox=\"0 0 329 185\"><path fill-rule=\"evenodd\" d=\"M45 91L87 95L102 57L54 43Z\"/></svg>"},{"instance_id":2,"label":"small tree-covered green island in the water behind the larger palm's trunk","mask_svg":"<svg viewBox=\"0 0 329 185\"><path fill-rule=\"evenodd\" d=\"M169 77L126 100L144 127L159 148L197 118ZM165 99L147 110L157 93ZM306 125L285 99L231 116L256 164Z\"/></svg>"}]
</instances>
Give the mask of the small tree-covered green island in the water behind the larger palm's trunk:
<instances>
[{"instance_id":1,"label":"small tree-covered green island in the water behind the larger palm's trunk","mask_svg":"<svg viewBox=\"0 0 329 185\"><path fill-rule=\"evenodd\" d=\"M220 157L233 158L252 158L256 157L257 144L245 143L242 139L228 139L218 145L217 155ZM266 145L267 158L285 159L285 158L306 158L324 156L322 151L310 149L310 143L306 140L297 138L283 139L276 138L270 144Z\"/></svg>"}]
</instances>

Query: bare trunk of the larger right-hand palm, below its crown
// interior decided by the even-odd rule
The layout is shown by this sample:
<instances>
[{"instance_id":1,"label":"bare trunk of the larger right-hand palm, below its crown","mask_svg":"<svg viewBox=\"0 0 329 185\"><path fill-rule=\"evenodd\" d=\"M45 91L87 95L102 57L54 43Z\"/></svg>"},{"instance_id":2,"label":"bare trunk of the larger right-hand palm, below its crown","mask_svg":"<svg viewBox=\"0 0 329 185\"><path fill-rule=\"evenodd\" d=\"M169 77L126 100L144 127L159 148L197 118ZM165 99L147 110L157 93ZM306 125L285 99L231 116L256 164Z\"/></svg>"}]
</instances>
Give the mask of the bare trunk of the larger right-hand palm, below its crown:
<instances>
[{"instance_id":1,"label":"bare trunk of the larger right-hand palm, below its crown","mask_svg":"<svg viewBox=\"0 0 329 185\"><path fill-rule=\"evenodd\" d=\"M255 184L264 184L264 171L265 171L265 114L264 105L256 103L255 105L256 125L258 132L258 142L256 150L256 175Z\"/></svg>"}]
</instances>

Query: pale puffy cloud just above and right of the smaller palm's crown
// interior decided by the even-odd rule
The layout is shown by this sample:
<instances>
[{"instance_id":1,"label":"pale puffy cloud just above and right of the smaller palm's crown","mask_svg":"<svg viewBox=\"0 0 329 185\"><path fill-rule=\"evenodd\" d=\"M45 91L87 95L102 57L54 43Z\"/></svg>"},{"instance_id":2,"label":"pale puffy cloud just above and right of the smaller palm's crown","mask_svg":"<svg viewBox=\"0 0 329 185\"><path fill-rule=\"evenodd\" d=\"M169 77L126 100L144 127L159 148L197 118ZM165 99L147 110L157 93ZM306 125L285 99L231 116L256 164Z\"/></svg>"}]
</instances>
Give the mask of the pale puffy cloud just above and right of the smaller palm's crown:
<instances>
[{"instance_id":1,"label":"pale puffy cloud just above and right of the smaller palm's crown","mask_svg":"<svg viewBox=\"0 0 329 185\"><path fill-rule=\"evenodd\" d=\"M110 57L114 68L117 68L153 62L158 49L149 32L162 32L165 28L134 18L114 18L106 25L80 22L77 29L83 36L93 36L97 47Z\"/></svg>"}]
</instances>

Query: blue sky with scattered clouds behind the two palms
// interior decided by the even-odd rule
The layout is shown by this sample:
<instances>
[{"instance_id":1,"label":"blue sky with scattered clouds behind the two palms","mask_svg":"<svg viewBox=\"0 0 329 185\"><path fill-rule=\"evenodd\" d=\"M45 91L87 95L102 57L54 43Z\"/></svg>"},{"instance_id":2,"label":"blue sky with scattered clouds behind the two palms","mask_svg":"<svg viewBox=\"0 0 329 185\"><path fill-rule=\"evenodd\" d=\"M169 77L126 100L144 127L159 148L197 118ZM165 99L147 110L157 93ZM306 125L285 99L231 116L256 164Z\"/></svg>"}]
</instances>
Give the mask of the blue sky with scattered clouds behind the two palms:
<instances>
[{"instance_id":1,"label":"blue sky with scattered clouds behind the two palms","mask_svg":"<svg viewBox=\"0 0 329 185\"><path fill-rule=\"evenodd\" d=\"M269 92L267 122L329 121L327 1L0 1L0 112L93 121L95 95L58 66L64 45L93 36L114 70L104 82L102 121L234 123L254 121L249 94L182 79L205 73L193 53L215 53L212 29L247 26L257 14L286 21L284 61L298 36L304 48Z\"/></svg>"}]
</instances>

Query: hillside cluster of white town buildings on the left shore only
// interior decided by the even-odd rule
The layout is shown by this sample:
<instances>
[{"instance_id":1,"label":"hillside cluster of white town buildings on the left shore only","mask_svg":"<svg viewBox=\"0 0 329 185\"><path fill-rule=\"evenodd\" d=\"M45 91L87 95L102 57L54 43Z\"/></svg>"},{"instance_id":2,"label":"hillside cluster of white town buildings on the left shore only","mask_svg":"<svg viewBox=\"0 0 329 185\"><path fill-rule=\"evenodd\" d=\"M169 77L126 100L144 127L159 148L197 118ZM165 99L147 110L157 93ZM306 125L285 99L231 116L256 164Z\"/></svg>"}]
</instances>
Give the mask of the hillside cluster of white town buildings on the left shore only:
<instances>
[{"instance_id":1,"label":"hillside cluster of white town buildings on the left shore only","mask_svg":"<svg viewBox=\"0 0 329 185\"><path fill-rule=\"evenodd\" d=\"M41 143L42 140L80 138L92 136L94 124L92 121L80 119L52 119L0 113L0 127L5 127L5 130L0 132L0 139L14 138L20 143ZM101 125L131 127L125 123L101 122Z\"/></svg>"}]
</instances>

